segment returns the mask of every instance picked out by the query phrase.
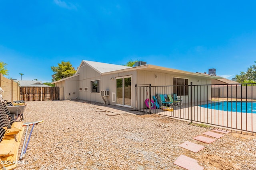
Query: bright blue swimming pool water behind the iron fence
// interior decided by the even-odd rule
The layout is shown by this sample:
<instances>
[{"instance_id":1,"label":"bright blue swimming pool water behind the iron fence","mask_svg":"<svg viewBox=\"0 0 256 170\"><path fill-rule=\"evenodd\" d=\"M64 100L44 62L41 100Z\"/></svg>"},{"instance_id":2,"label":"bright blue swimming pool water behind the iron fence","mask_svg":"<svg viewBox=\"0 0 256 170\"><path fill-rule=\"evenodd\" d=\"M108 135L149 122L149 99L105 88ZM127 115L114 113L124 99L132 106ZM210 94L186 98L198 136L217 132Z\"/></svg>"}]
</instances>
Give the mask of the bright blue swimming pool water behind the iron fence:
<instances>
[{"instance_id":1,"label":"bright blue swimming pool water behind the iron fence","mask_svg":"<svg viewBox=\"0 0 256 170\"><path fill-rule=\"evenodd\" d=\"M246 108L247 105L247 108ZM256 102L213 102L210 104L199 105L209 109L233 111L242 113L256 113ZM242 111L241 111L242 110Z\"/></svg>"}]
</instances>

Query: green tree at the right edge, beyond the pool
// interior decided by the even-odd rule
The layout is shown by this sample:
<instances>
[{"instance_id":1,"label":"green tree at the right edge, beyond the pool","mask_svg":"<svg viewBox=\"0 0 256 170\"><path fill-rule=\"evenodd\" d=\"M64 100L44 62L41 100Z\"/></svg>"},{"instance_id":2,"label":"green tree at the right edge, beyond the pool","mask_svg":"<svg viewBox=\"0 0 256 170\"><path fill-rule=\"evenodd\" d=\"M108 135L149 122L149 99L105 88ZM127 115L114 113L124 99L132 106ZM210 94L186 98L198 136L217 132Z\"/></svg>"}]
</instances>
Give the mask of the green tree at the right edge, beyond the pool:
<instances>
[{"instance_id":1,"label":"green tree at the right edge, beyond the pool","mask_svg":"<svg viewBox=\"0 0 256 170\"><path fill-rule=\"evenodd\" d=\"M246 72L241 71L240 74L236 74L235 78L240 83L256 82L256 65L250 66Z\"/></svg>"}]
</instances>

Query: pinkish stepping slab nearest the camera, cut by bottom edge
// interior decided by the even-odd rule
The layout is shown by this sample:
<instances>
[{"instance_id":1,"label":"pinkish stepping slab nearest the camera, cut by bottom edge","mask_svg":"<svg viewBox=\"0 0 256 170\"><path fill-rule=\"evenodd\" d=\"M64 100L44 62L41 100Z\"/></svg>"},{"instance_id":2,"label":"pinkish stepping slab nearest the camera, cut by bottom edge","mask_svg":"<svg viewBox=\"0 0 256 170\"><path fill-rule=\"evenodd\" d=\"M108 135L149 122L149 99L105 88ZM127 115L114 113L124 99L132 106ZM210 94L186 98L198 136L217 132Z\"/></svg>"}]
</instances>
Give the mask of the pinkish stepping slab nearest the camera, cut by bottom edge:
<instances>
[{"instance_id":1,"label":"pinkish stepping slab nearest the camera, cut by bottom edge","mask_svg":"<svg viewBox=\"0 0 256 170\"><path fill-rule=\"evenodd\" d=\"M203 170L204 167L200 166L197 160L185 155L180 155L174 162L174 164L185 168L187 170Z\"/></svg>"}]
</instances>

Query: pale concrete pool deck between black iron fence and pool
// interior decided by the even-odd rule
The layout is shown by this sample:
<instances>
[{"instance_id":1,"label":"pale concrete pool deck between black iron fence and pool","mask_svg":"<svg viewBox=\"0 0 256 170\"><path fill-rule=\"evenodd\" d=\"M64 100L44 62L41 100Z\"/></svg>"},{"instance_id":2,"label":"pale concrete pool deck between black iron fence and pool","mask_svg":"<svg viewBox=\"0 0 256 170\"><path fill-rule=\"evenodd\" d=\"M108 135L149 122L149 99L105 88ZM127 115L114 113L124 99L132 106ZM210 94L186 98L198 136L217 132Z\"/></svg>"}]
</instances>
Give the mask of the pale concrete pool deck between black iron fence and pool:
<instances>
[{"instance_id":1,"label":"pale concrete pool deck between black iron fence and pool","mask_svg":"<svg viewBox=\"0 0 256 170\"><path fill-rule=\"evenodd\" d=\"M173 109L174 111L151 109L151 113L186 119L190 121L190 104L183 104L183 106L173 107ZM196 122L256 133L256 113L222 111L208 109L200 106L192 106L192 120Z\"/></svg>"}]
</instances>

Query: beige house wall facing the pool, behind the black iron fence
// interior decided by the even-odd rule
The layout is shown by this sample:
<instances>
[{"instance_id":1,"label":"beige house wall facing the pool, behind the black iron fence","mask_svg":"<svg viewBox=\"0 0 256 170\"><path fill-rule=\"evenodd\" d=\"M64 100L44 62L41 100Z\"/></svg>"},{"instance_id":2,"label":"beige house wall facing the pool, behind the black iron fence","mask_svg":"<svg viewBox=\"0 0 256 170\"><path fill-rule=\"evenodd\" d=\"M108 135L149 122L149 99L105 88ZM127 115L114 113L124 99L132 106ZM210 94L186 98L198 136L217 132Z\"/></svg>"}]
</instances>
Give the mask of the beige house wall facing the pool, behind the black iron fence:
<instances>
[{"instance_id":1,"label":"beige house wall facing the pool, behind the black iron fence","mask_svg":"<svg viewBox=\"0 0 256 170\"><path fill-rule=\"evenodd\" d=\"M191 76L186 76L186 75L179 75L179 74L166 74L166 73L161 73L161 72L150 72L150 71L144 71L144 70L138 70L137 74L137 84L151 84L151 86L172 86L172 78L177 77L177 78L186 78L188 79L188 85L190 85L190 82L192 82L193 85L210 85L212 84L212 81L210 79L204 79L204 78L199 78L199 77L191 77ZM200 88L198 88L200 87ZM211 99L211 88L210 86L208 88L203 88L203 86L194 86L193 94L198 94L197 96L194 96L192 98L193 102L195 101L200 101L201 98L204 100L210 100ZM170 87L161 87L162 92L168 93L171 92ZM188 94L190 95L190 88ZM159 89L158 89L159 90ZM156 91L156 90L155 90ZM152 95L156 92L152 92ZM144 95L147 95L144 93ZM143 97L142 97L143 98ZM146 99L147 96L144 96ZM190 102L190 99L188 96L182 96L183 102Z\"/></svg>"}]
</instances>

